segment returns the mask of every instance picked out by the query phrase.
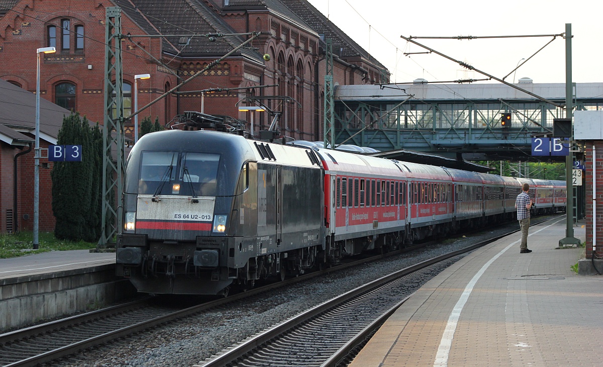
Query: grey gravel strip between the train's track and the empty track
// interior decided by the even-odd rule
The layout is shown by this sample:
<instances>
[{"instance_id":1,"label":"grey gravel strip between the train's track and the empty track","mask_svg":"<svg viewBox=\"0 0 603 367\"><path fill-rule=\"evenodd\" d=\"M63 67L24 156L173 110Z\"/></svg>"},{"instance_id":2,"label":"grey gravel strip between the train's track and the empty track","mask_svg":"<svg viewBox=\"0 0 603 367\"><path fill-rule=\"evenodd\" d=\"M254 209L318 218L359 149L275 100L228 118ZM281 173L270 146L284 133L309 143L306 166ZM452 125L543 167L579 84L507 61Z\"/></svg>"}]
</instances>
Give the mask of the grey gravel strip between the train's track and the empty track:
<instances>
[{"instance_id":1,"label":"grey gravel strip between the train's track and the empty track","mask_svg":"<svg viewBox=\"0 0 603 367\"><path fill-rule=\"evenodd\" d=\"M118 342L53 363L53 366L191 366L368 281L513 229L519 229L515 221L491 231L444 240L425 249L319 276L294 284L288 289L273 290L262 298L254 298L255 301L238 302L226 309L198 314L136 336L125 337Z\"/></svg>"}]
</instances>

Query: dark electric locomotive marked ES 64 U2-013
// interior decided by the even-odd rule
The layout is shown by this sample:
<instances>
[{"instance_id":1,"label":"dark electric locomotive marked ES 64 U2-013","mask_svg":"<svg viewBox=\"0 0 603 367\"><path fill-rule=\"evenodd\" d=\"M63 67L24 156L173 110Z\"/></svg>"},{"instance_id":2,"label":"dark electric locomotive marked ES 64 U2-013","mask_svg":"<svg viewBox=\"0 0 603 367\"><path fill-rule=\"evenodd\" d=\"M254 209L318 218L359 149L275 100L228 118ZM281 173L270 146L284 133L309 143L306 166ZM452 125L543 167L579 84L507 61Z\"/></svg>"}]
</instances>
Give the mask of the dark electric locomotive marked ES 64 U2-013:
<instances>
[{"instance_id":1,"label":"dark electric locomotive marked ES 64 U2-013","mask_svg":"<svg viewBox=\"0 0 603 367\"><path fill-rule=\"evenodd\" d=\"M226 295L303 273L323 250L322 175L309 148L147 134L127 161L117 274L139 292Z\"/></svg>"}]
</instances>

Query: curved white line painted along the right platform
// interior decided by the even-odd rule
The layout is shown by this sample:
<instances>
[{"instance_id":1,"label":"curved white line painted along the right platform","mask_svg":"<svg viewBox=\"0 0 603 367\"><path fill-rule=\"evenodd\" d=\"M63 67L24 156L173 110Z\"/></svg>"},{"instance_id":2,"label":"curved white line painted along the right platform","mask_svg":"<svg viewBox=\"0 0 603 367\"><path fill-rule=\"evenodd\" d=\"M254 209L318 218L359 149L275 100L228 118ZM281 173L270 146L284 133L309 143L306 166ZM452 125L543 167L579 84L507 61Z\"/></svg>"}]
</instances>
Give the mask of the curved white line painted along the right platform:
<instances>
[{"instance_id":1,"label":"curved white line painted along the right platform","mask_svg":"<svg viewBox=\"0 0 603 367\"><path fill-rule=\"evenodd\" d=\"M557 222L552 223L551 225L538 229L538 231L535 231L534 233L531 233L528 236L531 236L532 234L537 234L538 232L543 231L543 230L549 228L550 226L554 226L557 223L561 222L561 220L564 220L564 219L560 219ZM519 241L520 240L514 241L513 243L509 244L507 247L502 249L502 251L500 251L498 254L494 255L494 257L491 258L490 261L485 263L484 266L482 266L482 268L479 269L479 272L477 272L473 276L471 281L469 281L469 284L467 284L467 287L465 287L465 290L463 291L461 298L458 299L458 302L456 302L455 307L452 309L452 312L450 313L450 317L448 318L448 323L446 324L446 329L444 329L444 333L442 334L442 340L440 341L440 346L438 346L438 353L435 355L434 367L448 366L448 356L450 354L450 346L452 345L452 338L454 337L454 333L456 331L456 324L458 323L458 319L461 317L461 312L463 311L463 307L465 306L467 299L469 299L471 292L473 292L473 287L478 282L479 278L481 278L481 276L485 273L486 269L488 269L488 267L492 263L494 263L494 261L497 258L499 258L500 255L504 254L505 251L510 249L511 246L518 243Z\"/></svg>"}]
</instances>

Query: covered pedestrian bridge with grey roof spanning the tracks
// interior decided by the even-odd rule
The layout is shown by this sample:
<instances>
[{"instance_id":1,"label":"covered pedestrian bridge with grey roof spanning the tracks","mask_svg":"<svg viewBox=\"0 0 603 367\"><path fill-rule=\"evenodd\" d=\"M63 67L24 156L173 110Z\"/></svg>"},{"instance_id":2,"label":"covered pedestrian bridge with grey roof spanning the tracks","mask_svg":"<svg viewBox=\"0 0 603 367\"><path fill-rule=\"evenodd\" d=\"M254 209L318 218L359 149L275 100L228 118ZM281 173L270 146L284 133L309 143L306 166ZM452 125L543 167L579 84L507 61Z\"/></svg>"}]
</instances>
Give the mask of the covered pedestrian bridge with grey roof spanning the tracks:
<instances>
[{"instance_id":1,"label":"covered pedestrian bridge with grey roof spanning the tracks","mask_svg":"<svg viewBox=\"0 0 603 367\"><path fill-rule=\"evenodd\" d=\"M522 89L566 104L564 83L531 83ZM575 83L574 110L603 109L603 83ZM502 113L511 123L501 125ZM335 88L335 144L382 152L412 150L468 160L564 161L531 157L533 137L552 136L565 110L504 84L342 85Z\"/></svg>"}]
</instances>

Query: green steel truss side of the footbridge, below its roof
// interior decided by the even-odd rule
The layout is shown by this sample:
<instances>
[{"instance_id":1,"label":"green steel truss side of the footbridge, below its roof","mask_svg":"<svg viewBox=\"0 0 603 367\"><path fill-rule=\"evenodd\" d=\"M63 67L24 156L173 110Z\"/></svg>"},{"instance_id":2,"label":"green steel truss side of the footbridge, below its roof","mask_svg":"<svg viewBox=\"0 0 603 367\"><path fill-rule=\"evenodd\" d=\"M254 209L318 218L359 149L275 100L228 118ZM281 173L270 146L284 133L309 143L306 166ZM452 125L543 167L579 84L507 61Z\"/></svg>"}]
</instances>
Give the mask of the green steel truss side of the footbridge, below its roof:
<instances>
[{"instance_id":1,"label":"green steel truss side of the footbridge, below its roof","mask_svg":"<svg viewBox=\"0 0 603 367\"><path fill-rule=\"evenodd\" d=\"M603 109L599 100L577 100L576 109ZM500 126L511 112L511 127ZM564 109L541 101L335 101L336 144L456 155L515 150L530 155L533 136L552 133ZM351 138L350 138L351 137Z\"/></svg>"}]
</instances>

